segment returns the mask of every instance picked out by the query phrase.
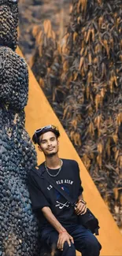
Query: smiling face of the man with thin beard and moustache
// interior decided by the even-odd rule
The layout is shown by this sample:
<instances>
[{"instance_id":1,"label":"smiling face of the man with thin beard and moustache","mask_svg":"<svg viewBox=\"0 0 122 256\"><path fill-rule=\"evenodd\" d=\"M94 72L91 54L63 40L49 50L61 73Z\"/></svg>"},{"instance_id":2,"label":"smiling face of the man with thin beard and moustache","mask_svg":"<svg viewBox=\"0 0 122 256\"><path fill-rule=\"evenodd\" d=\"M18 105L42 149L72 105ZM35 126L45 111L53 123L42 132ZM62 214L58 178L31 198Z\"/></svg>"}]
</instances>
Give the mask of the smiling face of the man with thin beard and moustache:
<instances>
[{"instance_id":1,"label":"smiling face of the man with thin beard and moustache","mask_svg":"<svg viewBox=\"0 0 122 256\"><path fill-rule=\"evenodd\" d=\"M58 141L54 132L46 132L39 137L39 150L46 156L53 156L58 152Z\"/></svg>"}]
</instances>

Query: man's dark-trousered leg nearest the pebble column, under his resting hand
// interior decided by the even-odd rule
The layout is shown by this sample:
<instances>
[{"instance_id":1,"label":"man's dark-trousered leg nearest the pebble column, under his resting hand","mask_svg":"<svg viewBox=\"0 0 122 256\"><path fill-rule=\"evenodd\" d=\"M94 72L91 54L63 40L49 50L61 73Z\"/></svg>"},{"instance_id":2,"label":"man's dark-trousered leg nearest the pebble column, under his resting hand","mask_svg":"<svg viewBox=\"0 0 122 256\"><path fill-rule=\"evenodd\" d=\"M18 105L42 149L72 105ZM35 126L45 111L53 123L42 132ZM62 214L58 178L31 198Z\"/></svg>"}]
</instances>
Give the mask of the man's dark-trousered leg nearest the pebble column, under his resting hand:
<instances>
[{"instance_id":1,"label":"man's dark-trousered leg nearest the pebble column, under his resting hand","mask_svg":"<svg viewBox=\"0 0 122 256\"><path fill-rule=\"evenodd\" d=\"M76 248L71 243L71 247L68 243L64 243L63 250L57 249L58 232L54 228L45 228L41 234L41 243L47 244L54 256L76 256Z\"/></svg>"}]
</instances>

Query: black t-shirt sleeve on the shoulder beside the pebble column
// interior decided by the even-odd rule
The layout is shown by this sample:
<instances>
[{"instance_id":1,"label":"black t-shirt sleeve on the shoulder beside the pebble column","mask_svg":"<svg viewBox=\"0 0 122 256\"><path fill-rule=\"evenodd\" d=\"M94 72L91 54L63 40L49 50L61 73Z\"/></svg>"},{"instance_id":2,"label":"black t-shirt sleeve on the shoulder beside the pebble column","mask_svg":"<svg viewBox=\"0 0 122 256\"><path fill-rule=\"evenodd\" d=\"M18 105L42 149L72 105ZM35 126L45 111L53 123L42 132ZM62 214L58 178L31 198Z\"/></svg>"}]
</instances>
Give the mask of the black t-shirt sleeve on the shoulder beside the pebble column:
<instances>
[{"instance_id":1,"label":"black t-shirt sleeve on the shoulder beside the pebble column","mask_svg":"<svg viewBox=\"0 0 122 256\"><path fill-rule=\"evenodd\" d=\"M28 191L31 198L31 205L33 210L42 209L45 206L50 207L50 203L46 200L46 197L43 195L43 191L39 188L36 183L35 177L28 174Z\"/></svg>"}]
</instances>

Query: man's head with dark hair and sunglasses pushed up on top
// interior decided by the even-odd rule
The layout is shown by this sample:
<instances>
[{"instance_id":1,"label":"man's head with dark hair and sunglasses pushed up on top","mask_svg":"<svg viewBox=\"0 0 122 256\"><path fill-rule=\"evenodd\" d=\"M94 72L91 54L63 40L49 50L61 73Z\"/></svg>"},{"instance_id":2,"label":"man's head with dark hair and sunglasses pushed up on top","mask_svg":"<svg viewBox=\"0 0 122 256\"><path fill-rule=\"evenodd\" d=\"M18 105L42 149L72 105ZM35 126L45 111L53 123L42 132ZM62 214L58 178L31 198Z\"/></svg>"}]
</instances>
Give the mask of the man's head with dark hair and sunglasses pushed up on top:
<instances>
[{"instance_id":1,"label":"man's head with dark hair and sunglasses pushed up on top","mask_svg":"<svg viewBox=\"0 0 122 256\"><path fill-rule=\"evenodd\" d=\"M54 125L47 125L39 128L32 136L35 144L39 145L39 150L43 151L45 156L51 157L58 152L58 137L60 132Z\"/></svg>"}]
</instances>

